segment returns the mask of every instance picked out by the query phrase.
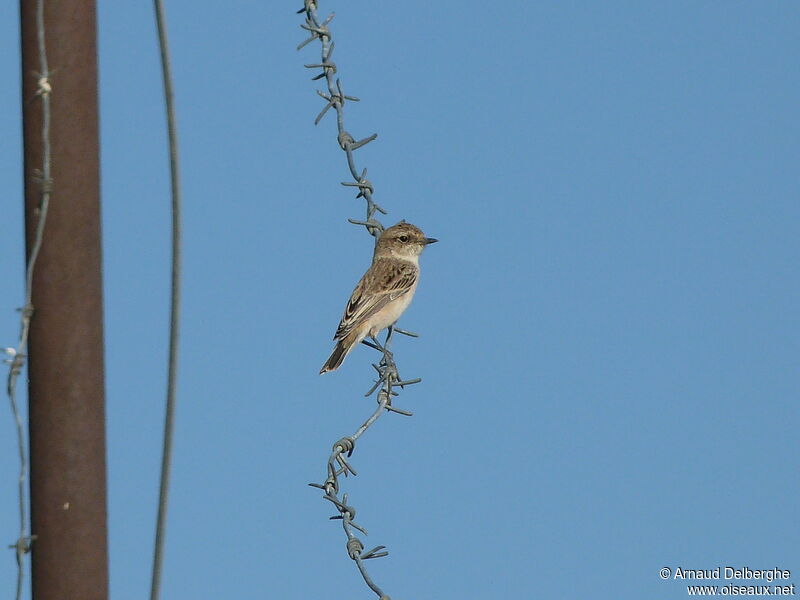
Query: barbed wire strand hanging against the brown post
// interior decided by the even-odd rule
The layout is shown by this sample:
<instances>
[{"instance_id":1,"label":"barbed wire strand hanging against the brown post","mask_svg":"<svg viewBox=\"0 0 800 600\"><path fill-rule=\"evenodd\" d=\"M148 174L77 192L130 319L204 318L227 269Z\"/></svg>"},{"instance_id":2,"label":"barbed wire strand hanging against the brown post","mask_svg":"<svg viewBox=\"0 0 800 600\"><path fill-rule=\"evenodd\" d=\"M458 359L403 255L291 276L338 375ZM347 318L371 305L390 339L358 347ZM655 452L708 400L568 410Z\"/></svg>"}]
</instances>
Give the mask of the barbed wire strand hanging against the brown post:
<instances>
[{"instance_id":1,"label":"barbed wire strand hanging against the brown post","mask_svg":"<svg viewBox=\"0 0 800 600\"><path fill-rule=\"evenodd\" d=\"M19 477L17 480L19 536L17 537L17 541L9 546L14 550L17 560L16 600L21 600L22 598L22 585L25 580L25 555L31 551L31 544L36 539L35 535L28 533L28 498L25 486L28 476L28 453L25 445L25 430L22 423L22 413L19 410L19 403L17 402L17 380L25 367L27 359L28 337L30 334L31 319L34 313L32 302L33 272L36 268L36 260L39 257L39 251L42 248L44 227L47 222L47 212L50 206L50 195L53 191L53 181L50 177L50 94L53 92L53 86L50 80L51 72L47 64L45 45L44 0L37 0L36 3L36 39L39 49L39 72L34 73L37 85L34 98L39 98L42 101L42 169L41 171L34 171L33 176L35 181L39 184L41 197L37 211L38 216L33 245L30 248L28 263L25 268L25 303L19 309L19 340L14 348L4 349L9 358L3 361L8 365L6 394L8 395L8 401L11 405L11 412L14 417L17 450L19 454Z\"/></svg>"}]
</instances>

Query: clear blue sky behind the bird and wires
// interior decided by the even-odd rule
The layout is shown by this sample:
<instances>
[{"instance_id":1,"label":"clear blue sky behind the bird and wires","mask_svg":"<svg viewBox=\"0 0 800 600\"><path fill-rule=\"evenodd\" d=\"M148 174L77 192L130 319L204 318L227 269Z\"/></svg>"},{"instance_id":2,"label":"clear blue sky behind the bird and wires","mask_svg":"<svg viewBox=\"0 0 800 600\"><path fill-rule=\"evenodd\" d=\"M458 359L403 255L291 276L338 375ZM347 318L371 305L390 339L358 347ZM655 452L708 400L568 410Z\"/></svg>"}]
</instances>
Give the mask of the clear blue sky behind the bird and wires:
<instances>
[{"instance_id":1,"label":"clear blue sky behind the bird and wires","mask_svg":"<svg viewBox=\"0 0 800 600\"><path fill-rule=\"evenodd\" d=\"M123 5L124 4L124 5ZM367 267L300 3L168 2L185 194L164 598L369 598L321 481L374 407L320 377ZM345 485L393 598L679 598L800 573L800 7L322 1L376 200L441 240L400 406ZM0 7L0 346L22 302L18 15ZM99 13L111 593L145 597L169 199L148 3ZM58 65L53 65L57 67ZM57 93L57 91L56 91ZM0 537L16 536L0 419ZM5 484L2 484L5 482ZM0 560L12 593L14 558ZM795 581L794 579L792 581ZM3 592L0 592L3 593Z\"/></svg>"}]
</instances>

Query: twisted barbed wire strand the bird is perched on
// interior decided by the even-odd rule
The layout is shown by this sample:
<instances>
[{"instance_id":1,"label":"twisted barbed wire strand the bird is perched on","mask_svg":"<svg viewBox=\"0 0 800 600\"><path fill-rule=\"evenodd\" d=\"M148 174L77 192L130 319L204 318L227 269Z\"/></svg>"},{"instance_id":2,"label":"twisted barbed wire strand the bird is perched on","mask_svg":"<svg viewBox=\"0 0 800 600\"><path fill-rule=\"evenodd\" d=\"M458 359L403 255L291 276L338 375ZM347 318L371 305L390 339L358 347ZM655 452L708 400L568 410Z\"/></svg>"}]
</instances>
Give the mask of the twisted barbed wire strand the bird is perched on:
<instances>
[{"instance_id":1,"label":"twisted barbed wire strand the bird is perched on","mask_svg":"<svg viewBox=\"0 0 800 600\"><path fill-rule=\"evenodd\" d=\"M354 225L361 225L365 227L370 235L377 238L383 231L384 227L380 221L375 218L375 214L380 213L385 215L387 212L373 199L375 187L373 186L372 182L367 179L367 169L365 168L363 171L359 172L356 168L353 153L362 146L365 146L376 139L378 134L374 133L368 137L356 141L355 138L348 133L347 129L345 129L344 105L347 101L358 102L358 98L354 96L348 96L344 93L341 79L336 77L336 63L331 60L335 46L333 34L331 33L328 25L333 20L334 13L331 13L327 18L321 21L317 15L317 8L317 0L304 0L303 8L297 11L298 14L305 14L306 16L305 23L300 25L300 27L311 34L308 39L297 46L297 49L302 49L314 40L319 40L322 45L321 61L319 63L305 65L305 67L308 69L322 69L322 72L314 76L312 80L317 81L324 78L325 83L327 84L327 92L322 92L319 90L317 91L317 94L319 94L326 101L326 104L317 115L317 118L314 120L314 124L319 124L319 122L331 108L336 112L336 126L338 130L337 141L339 143L339 147L347 155L347 166L350 170L350 174L353 177L353 181L342 182L342 185L358 188L358 194L356 195L356 198L364 198L366 202L366 218L363 220L348 219L348 221ZM364 565L364 561L372 558L381 558L383 556L387 556L389 553L386 551L385 546L376 546L371 550L367 550L366 552L364 551L364 544L358 538L355 532L359 531L364 535L367 535L367 531L354 521L356 509L352 505L348 504L348 495L345 493L340 498L339 492L341 476L347 477L348 475L357 475L355 469L353 469L352 465L347 460L353 454L356 440L361 437L361 435L384 412L395 412L409 417L412 415L412 413L392 405L392 399L398 396L396 388L403 389L407 385L413 385L422 381L419 378L404 381L400 377L400 373L397 370L397 364L394 361L394 355L389 350L389 344L391 343L392 335L395 332L411 337L417 337L417 334L410 331L405 331L403 329L399 329L398 327L389 327L389 331L386 335L386 341L383 343L383 345L377 343L376 340L364 340L362 342L363 344L366 344L367 346L374 348L381 353L380 362L377 364L373 363L372 365L376 371L377 378L372 387L370 387L365 394L366 397L369 397L372 396L377 390L376 400L378 407L369 416L369 418L364 421L361 427L355 431L355 433L350 436L343 437L333 445L331 455L328 458L327 477L325 478L325 481L321 484L309 484L312 487L321 489L324 492L322 496L323 499L333 504L338 511L338 514L331 517L331 519L342 521L342 527L344 529L345 536L347 537L347 554L356 563L364 582L373 592L375 592L380 600L390 599L389 596L386 595L383 590L381 590L381 588L375 584L374 581L372 581L372 578L370 577Z\"/></svg>"}]
</instances>

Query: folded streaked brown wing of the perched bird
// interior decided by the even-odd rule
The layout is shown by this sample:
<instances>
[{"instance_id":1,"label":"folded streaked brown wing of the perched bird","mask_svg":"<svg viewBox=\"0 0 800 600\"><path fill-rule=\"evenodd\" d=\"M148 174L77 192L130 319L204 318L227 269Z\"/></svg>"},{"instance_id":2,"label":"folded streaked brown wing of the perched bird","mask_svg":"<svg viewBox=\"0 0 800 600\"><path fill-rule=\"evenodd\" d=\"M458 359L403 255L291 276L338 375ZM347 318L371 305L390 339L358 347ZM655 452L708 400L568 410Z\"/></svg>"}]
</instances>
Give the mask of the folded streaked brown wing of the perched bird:
<instances>
[{"instance_id":1,"label":"folded streaked brown wing of the perched bird","mask_svg":"<svg viewBox=\"0 0 800 600\"><path fill-rule=\"evenodd\" d=\"M410 262L377 259L353 290L333 339L344 338L389 302L411 290L418 272L417 266Z\"/></svg>"}]
</instances>

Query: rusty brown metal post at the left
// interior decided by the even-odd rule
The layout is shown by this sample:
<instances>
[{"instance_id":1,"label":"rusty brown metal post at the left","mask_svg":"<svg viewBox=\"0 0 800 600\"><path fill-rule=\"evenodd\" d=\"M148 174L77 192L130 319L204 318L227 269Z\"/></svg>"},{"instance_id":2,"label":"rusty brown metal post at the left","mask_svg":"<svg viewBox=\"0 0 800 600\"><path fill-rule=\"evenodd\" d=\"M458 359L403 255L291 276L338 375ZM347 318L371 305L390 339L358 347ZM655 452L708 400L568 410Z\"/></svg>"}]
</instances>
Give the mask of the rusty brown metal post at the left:
<instances>
[{"instance_id":1,"label":"rusty brown metal post at the left","mask_svg":"<svg viewBox=\"0 0 800 600\"><path fill-rule=\"evenodd\" d=\"M20 0L25 229L35 239L43 102L37 1ZM108 598L95 0L46 0L52 194L29 344L35 600Z\"/></svg>"}]
</instances>

